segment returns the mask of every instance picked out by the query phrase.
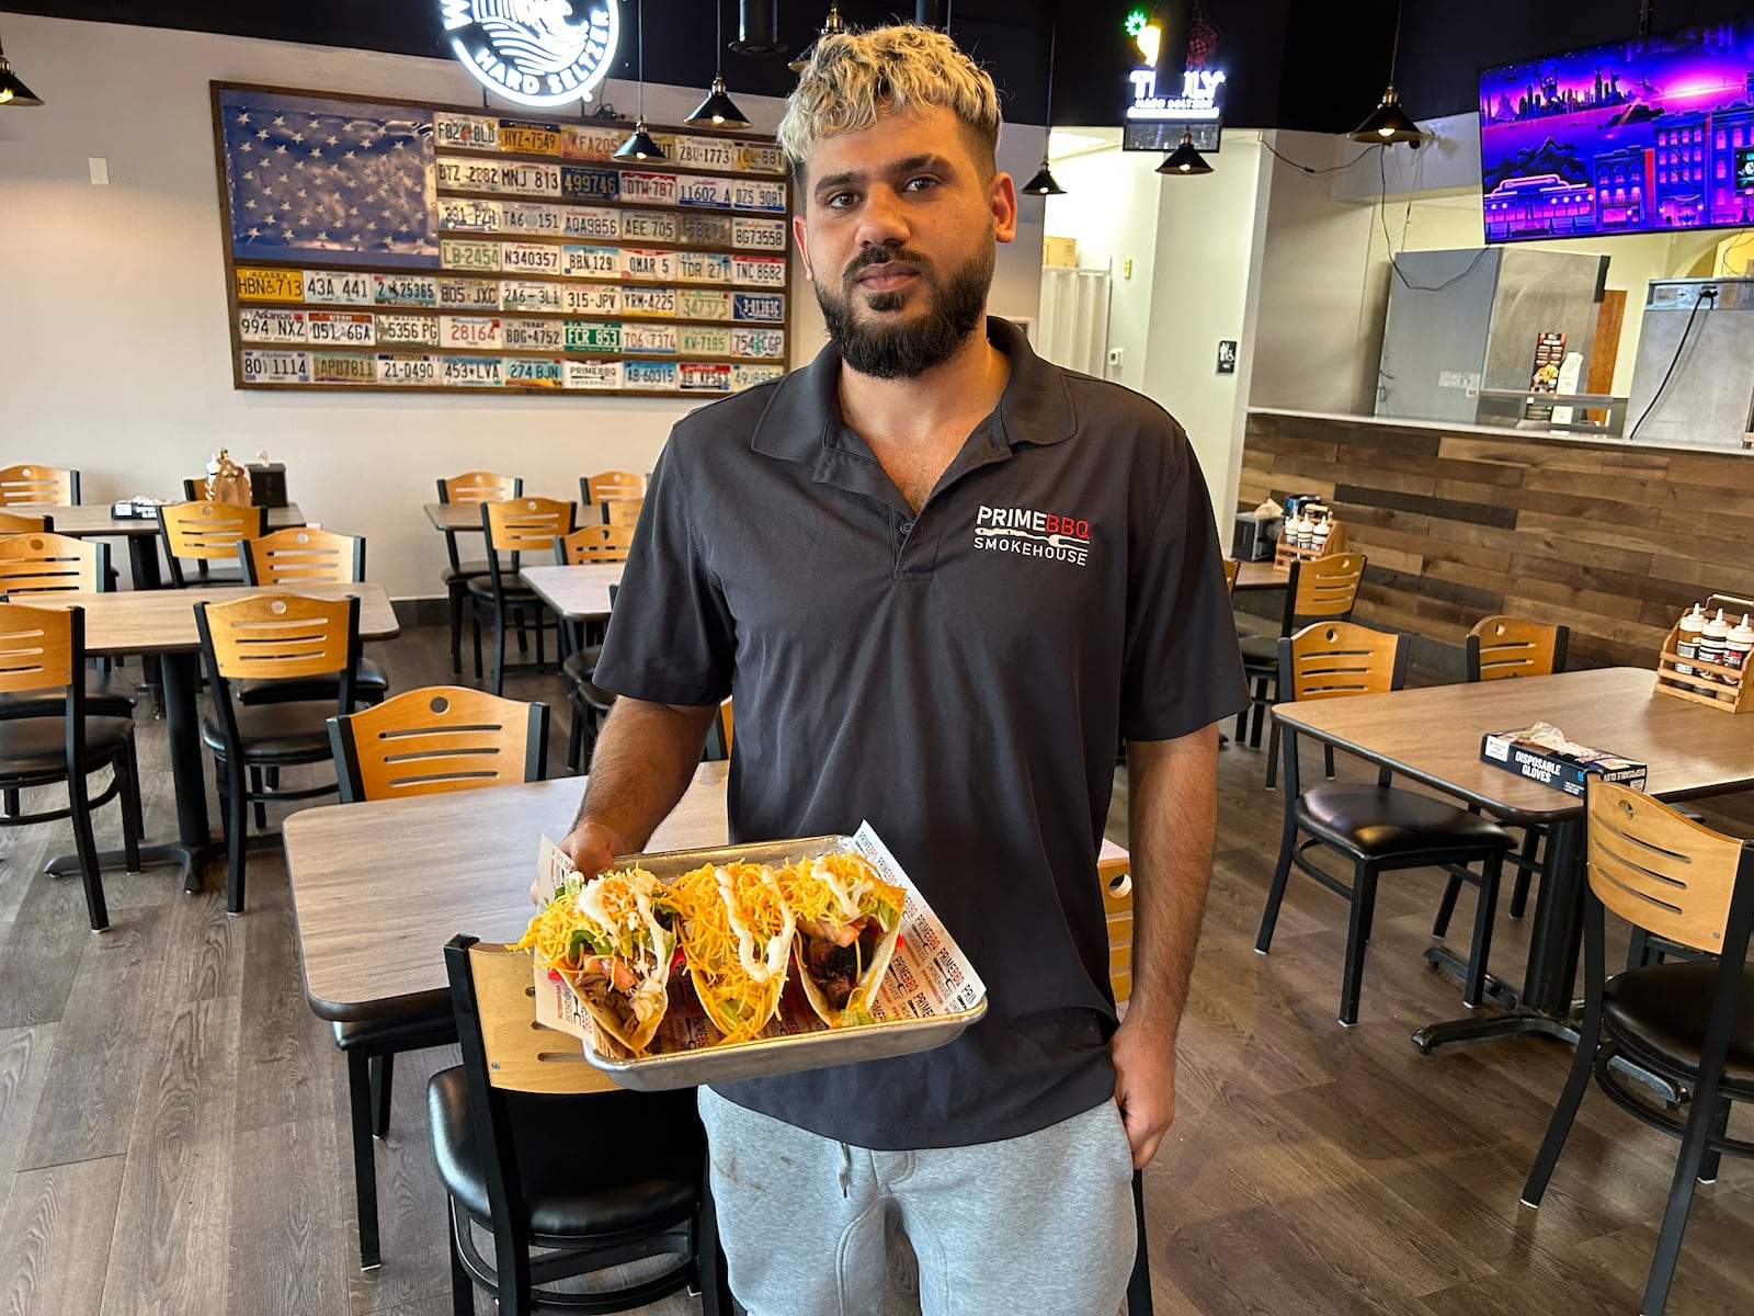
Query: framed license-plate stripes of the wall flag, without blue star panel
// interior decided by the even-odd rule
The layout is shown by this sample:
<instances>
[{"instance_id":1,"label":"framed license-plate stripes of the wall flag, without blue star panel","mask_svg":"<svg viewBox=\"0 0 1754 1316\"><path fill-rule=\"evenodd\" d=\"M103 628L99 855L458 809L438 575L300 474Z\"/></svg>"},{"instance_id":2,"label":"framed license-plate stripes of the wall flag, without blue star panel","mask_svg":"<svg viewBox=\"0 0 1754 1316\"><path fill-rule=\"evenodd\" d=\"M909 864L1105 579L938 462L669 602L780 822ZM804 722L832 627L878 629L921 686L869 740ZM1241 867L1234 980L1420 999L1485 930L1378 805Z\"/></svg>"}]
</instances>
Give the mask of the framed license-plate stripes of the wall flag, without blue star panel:
<instances>
[{"instance_id":1,"label":"framed license-plate stripes of the wall flag, without blue star panel","mask_svg":"<svg viewBox=\"0 0 1754 1316\"><path fill-rule=\"evenodd\" d=\"M430 174L435 184L431 195L437 197L433 237L440 254L431 265L414 267L405 258L374 263L360 260L358 256L363 253L346 247L337 247L328 260L310 256L303 247L298 249L302 254L288 260L240 260L232 242L235 219L232 188L235 179L233 160L226 147L223 107L228 98L251 93L303 98L312 104L312 112L321 112L319 102L426 111L433 116L435 140L440 140L442 130L453 123L491 123L495 140L500 140L500 133L505 132L503 140L510 146L535 146L538 149L489 149L456 142L433 147ZM210 104L235 388L710 398L728 397L738 388L777 379L788 370L788 354L793 344L789 221L795 211L795 195L774 139L695 125L652 126L660 144L670 142L670 158L654 163L624 163L612 158L612 144L624 137L626 126L605 126L591 119L561 121L560 116L545 112L484 112L481 105L433 105L396 97L361 97L219 81L210 82ZM361 109L361 112L365 111ZM509 130L516 130L517 140L512 140ZM609 140L610 137L614 142ZM723 144L724 167L677 163L674 147L679 144L688 144L691 154L709 158L719 154L719 144ZM240 156L240 174L247 172L242 160ZM551 177L560 186L560 193L530 190L521 184L505 188L503 177L489 179L486 174L481 179L467 177L489 163L495 168L507 165L553 167ZM440 165L454 168L447 172ZM332 165L332 168L337 167ZM638 188L647 195L626 195L628 175L637 175ZM491 186L488 186L489 181ZM693 197L689 205L682 204L684 186ZM761 195L763 188L768 191L766 197ZM774 190L781 193L782 209L761 209L768 204ZM745 193L747 202L744 200ZM544 207L547 197L556 197L561 204ZM505 205L517 207L516 219L507 219L510 212L503 209ZM568 216L568 211L579 214ZM595 235L593 225L598 221L591 219L588 211L609 216L602 225L614 232ZM626 232L624 216L628 214L642 216L642 232ZM447 225L446 218L454 223ZM540 219L540 226L533 226L535 219ZM570 219L577 221L574 233L565 232ZM738 237L744 239L742 244L738 244ZM567 254L565 247L568 246L581 256ZM268 251L275 249L279 247L268 247ZM505 267L509 249L516 253L521 265ZM549 251L556 254L549 254ZM610 251L616 261L614 272L602 267L602 260L607 256L589 254ZM652 256L647 261L652 274L647 274L640 265L645 256ZM689 261L684 258L693 258L693 279L684 277L689 274ZM779 261L774 275L763 274L774 268L770 260ZM579 274L563 274L568 261ZM672 267L668 277L661 272L667 261ZM738 265L738 261L744 263ZM709 270L723 270L726 281L712 281L714 275ZM738 283L740 270L745 277ZM330 300L312 300L305 290L305 274L323 275L326 272L333 272L342 286L349 279L358 279L361 281L360 288L347 290L346 295ZM479 295L481 302L465 300L447 307L437 291L440 279L447 281L447 286L463 290L460 295L470 298ZM647 283L647 279L652 281ZM419 284L417 297L414 295L416 283ZM505 283L519 284L519 300L526 297L528 288L553 286L554 297L549 298L553 309L507 305ZM486 284L493 284L491 307L486 300ZM403 286L409 290L407 295L396 291ZM651 298L651 309L628 311L623 297L628 288L652 290L658 297ZM570 309L565 305L568 300L565 290L575 290L572 295L575 305ZM717 297L719 293L723 298ZM738 311L749 314L738 318ZM544 342L540 347L505 347L491 342L481 346L444 344L444 321L460 312L465 318L491 321L493 328L484 332L496 333L502 342L507 318L517 319L521 325L553 326L553 330L560 330L560 340ZM768 318L754 319L754 312ZM305 326L307 316L317 314L324 318L326 325L339 323L347 333L360 332L365 339L335 342L333 346L300 342L296 337L288 340L286 333L296 335L291 319L295 314L300 318L296 328ZM388 346L377 342L379 314L389 314L400 321L402 337ZM260 319L260 323L258 319L249 321L249 340L246 340L247 316ZM428 321L431 323L430 332L426 330ZM409 340L416 325L424 342ZM574 330L574 325L579 328ZM656 340L647 349L624 346L630 339L663 325L672 325L677 330L674 347L656 346ZM635 333L630 335L630 328ZM309 333L309 330L305 332ZM693 337L688 332L693 332ZM775 332L777 339L772 337ZM547 328L530 330L526 337L530 333L537 333L544 340L554 337ZM570 346L574 342L577 346ZM738 344L745 344L751 351L737 353ZM400 370L402 383L393 383L396 379L393 372L402 361L407 363ZM493 365L491 370L484 367L481 372L468 372L458 365L460 383L446 384L438 381L451 370L447 361L465 365L491 361ZM581 368L574 370L574 363L581 363ZM607 388L589 388L584 383L568 386L568 379L584 381L588 370L582 367L591 363L619 367L612 377L621 383ZM665 367L663 374L675 383L668 388L628 386L624 372L630 365ZM279 383L265 374L281 367L286 367L286 377ZM526 374L540 370L542 374L531 383L519 383L510 379L517 370ZM465 375L474 377L475 374L500 383L491 383L486 388L461 383ZM738 384L738 379L747 383Z\"/></svg>"}]
</instances>

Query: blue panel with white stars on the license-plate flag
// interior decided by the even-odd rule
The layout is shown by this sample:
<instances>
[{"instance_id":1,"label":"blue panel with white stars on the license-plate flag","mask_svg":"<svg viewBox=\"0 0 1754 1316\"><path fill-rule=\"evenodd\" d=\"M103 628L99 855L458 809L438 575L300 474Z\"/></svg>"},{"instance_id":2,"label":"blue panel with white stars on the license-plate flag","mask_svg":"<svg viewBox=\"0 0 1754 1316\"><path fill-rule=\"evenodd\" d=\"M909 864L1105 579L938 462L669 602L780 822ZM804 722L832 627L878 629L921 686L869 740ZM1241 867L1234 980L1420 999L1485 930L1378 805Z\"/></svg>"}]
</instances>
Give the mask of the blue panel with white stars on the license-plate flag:
<instances>
[{"instance_id":1,"label":"blue panel with white stars on the license-plate flag","mask_svg":"<svg viewBox=\"0 0 1754 1316\"><path fill-rule=\"evenodd\" d=\"M433 116L219 89L233 260L438 267Z\"/></svg>"}]
</instances>

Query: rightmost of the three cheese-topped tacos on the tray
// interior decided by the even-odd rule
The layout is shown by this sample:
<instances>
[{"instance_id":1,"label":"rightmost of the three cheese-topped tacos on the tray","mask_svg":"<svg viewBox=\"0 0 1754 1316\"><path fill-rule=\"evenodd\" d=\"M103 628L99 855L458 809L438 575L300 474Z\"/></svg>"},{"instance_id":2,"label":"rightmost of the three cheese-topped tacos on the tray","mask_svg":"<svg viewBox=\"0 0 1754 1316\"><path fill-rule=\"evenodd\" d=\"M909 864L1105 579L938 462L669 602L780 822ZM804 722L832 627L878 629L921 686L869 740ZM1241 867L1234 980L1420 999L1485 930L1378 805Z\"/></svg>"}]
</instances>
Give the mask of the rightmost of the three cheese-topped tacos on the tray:
<instances>
[{"instance_id":1,"label":"rightmost of the three cheese-topped tacos on the tray","mask_svg":"<svg viewBox=\"0 0 1754 1316\"><path fill-rule=\"evenodd\" d=\"M873 1023L889 958L902 933L905 893L858 855L821 855L779 870L798 921L798 984L830 1028Z\"/></svg>"}]
</instances>

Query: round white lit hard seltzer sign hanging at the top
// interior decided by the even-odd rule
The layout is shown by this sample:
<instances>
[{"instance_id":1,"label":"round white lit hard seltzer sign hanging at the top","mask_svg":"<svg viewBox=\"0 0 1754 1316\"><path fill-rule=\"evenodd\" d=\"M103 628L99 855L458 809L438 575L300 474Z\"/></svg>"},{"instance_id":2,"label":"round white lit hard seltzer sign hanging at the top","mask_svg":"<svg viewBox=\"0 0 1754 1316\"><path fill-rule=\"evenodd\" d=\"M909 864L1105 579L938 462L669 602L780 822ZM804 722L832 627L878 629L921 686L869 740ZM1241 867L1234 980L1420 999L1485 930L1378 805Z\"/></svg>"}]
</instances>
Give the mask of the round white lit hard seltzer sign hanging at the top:
<instances>
[{"instance_id":1,"label":"round white lit hard seltzer sign hanging at the top","mask_svg":"<svg viewBox=\"0 0 1754 1316\"><path fill-rule=\"evenodd\" d=\"M616 53L614 4L438 0L438 9L463 67L523 105L589 100Z\"/></svg>"}]
</instances>

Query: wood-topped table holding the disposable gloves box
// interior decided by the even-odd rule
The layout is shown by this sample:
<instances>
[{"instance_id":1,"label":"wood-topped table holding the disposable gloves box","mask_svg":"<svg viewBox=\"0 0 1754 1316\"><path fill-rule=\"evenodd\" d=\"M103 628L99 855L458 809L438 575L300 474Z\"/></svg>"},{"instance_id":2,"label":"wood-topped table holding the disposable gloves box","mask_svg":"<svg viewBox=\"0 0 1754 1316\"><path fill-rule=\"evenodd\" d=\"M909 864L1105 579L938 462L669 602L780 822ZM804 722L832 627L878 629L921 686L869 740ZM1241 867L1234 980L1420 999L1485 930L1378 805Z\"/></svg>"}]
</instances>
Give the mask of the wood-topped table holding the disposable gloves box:
<instances>
[{"instance_id":1,"label":"wood-topped table holding the disposable gloves box","mask_svg":"<svg viewBox=\"0 0 1754 1316\"><path fill-rule=\"evenodd\" d=\"M1529 1032L1577 1041L1572 991L1584 911L1584 800L1484 762L1484 735L1551 723L1579 744L1645 763L1643 790L1661 800L1754 784L1754 718L1658 693L1656 674L1642 667L1279 704L1273 718L1298 735L1387 767L1498 819L1547 828L1515 1009L1430 1023L1414 1033L1421 1051ZM1438 960L1442 953L1433 948L1428 956Z\"/></svg>"}]
</instances>

